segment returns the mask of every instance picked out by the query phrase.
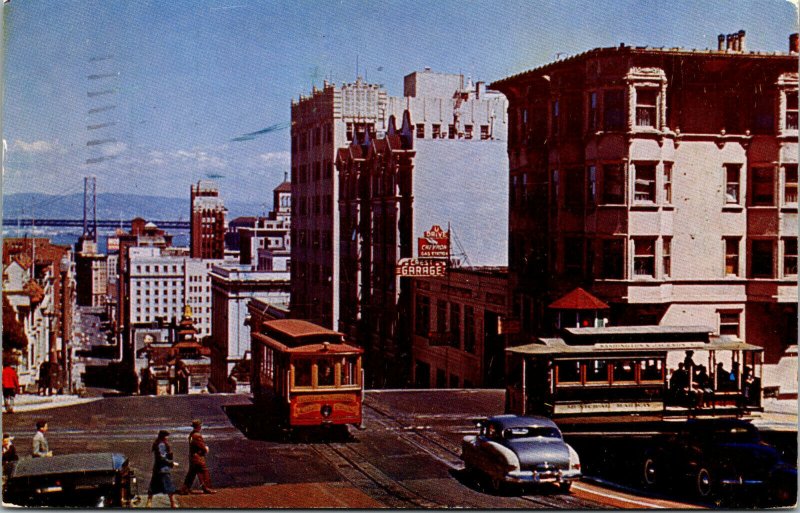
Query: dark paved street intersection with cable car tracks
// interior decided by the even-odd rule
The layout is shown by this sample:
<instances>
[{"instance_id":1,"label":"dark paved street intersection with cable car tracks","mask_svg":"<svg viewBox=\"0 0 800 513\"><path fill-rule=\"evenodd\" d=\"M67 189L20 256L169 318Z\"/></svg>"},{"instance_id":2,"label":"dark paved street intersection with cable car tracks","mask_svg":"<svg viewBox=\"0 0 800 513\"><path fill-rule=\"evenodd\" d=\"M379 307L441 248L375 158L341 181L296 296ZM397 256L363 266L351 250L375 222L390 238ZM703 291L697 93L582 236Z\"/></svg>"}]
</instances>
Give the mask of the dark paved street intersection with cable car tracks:
<instances>
[{"instance_id":1,"label":"dark paved street intersection with cable car tracks","mask_svg":"<svg viewBox=\"0 0 800 513\"><path fill-rule=\"evenodd\" d=\"M56 454L115 451L126 454L144 494L151 475L150 444L159 429L172 433L186 471L190 421L201 418L211 448L209 465L217 495L179 498L185 507L397 507L397 508L652 508L686 507L659 498L609 489L589 481L570 495L540 490L514 496L485 493L461 471L458 446L474 432L472 419L499 413L500 391L368 392L366 426L348 441L286 440L256 422L244 395L108 397L47 410L4 416L4 430L19 452L39 418L50 422ZM245 432L247 434L245 434ZM166 505L163 502L155 505Z\"/></svg>"}]
</instances>

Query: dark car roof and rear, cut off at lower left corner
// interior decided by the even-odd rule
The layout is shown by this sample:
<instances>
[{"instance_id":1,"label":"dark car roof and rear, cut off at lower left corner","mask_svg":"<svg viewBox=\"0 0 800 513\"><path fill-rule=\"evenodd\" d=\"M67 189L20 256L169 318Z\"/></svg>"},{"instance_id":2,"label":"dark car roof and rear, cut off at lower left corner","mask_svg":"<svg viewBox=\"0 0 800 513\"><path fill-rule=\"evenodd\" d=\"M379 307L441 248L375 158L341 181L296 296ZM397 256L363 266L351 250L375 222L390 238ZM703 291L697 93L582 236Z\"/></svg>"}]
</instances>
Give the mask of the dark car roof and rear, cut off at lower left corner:
<instances>
[{"instance_id":1,"label":"dark car roof and rear, cut off at lower left corner","mask_svg":"<svg viewBox=\"0 0 800 513\"><path fill-rule=\"evenodd\" d=\"M33 507L128 507L136 476L119 453L80 453L19 460L3 490L3 502Z\"/></svg>"}]
</instances>

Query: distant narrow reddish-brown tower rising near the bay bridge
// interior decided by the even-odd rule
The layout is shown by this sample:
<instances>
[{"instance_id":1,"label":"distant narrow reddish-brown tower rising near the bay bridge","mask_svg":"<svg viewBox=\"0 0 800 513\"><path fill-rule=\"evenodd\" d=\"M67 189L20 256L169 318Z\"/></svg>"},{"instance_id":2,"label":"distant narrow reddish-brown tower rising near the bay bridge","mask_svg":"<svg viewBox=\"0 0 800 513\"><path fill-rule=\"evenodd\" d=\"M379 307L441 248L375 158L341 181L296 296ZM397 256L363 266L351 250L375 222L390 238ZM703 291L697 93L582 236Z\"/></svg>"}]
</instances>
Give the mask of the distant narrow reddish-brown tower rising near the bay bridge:
<instances>
[{"instance_id":1,"label":"distant narrow reddish-brown tower rising near the bay bridge","mask_svg":"<svg viewBox=\"0 0 800 513\"><path fill-rule=\"evenodd\" d=\"M200 180L191 185L189 217L192 258L225 257L225 205L214 182Z\"/></svg>"}]
</instances>

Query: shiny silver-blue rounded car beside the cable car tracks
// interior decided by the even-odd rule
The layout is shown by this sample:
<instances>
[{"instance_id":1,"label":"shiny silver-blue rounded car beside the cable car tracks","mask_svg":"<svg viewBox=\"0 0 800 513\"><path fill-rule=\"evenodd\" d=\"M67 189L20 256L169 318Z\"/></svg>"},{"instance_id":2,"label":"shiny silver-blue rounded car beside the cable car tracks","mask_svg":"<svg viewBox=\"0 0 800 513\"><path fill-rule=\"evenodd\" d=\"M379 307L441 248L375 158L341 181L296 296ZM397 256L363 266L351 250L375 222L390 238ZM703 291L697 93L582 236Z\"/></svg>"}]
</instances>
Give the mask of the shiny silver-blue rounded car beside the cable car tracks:
<instances>
[{"instance_id":1,"label":"shiny silver-blue rounded car beside the cable car tracks","mask_svg":"<svg viewBox=\"0 0 800 513\"><path fill-rule=\"evenodd\" d=\"M545 417L498 415L478 423L476 436L461 442L468 472L483 477L494 492L507 485L552 483L568 492L581 477L578 453Z\"/></svg>"}]
</instances>

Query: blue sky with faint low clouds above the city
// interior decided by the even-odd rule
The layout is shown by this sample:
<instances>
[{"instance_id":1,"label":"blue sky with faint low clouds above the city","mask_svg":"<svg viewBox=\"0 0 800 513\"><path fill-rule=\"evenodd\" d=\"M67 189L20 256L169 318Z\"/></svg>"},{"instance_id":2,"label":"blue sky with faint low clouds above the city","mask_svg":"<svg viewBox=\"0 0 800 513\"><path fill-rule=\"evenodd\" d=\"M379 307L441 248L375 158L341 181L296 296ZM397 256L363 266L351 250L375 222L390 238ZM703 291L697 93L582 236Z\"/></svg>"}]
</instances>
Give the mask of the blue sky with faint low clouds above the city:
<instances>
[{"instance_id":1,"label":"blue sky with faint low clouds above the city","mask_svg":"<svg viewBox=\"0 0 800 513\"><path fill-rule=\"evenodd\" d=\"M786 52L787 0L11 0L3 7L3 193L271 203L290 106L359 74L402 95L429 66L492 82L596 47ZM268 129L268 130L264 130ZM245 134L263 131L252 137ZM239 140L236 140L239 139Z\"/></svg>"}]
</instances>

